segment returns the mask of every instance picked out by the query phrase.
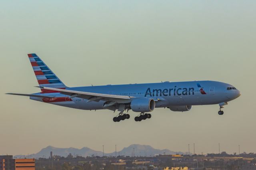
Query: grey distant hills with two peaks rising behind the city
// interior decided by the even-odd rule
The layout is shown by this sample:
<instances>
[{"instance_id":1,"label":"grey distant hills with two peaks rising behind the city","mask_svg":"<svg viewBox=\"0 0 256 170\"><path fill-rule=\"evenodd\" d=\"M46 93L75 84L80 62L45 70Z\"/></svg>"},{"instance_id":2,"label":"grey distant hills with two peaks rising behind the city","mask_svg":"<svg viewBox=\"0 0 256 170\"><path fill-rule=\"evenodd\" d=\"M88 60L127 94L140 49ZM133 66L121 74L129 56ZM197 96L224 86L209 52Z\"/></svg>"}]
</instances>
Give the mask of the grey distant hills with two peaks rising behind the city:
<instances>
[{"instance_id":1,"label":"grey distant hills with two peaks rising behind the city","mask_svg":"<svg viewBox=\"0 0 256 170\"><path fill-rule=\"evenodd\" d=\"M122 150L117 152L117 155L124 155L124 156L132 156L133 155L133 148L134 148L134 155L135 156L154 156L156 154L183 154L183 152L174 152L168 149L159 150L152 148L152 146L149 145L140 145L140 144L132 144L128 146L127 148L123 148ZM78 156L102 156L103 152L92 150L90 148L84 147L81 149L77 148L56 148L53 146L47 146L46 148L43 148L40 150L40 152L36 154L30 154L30 155L16 155L16 158L49 158L50 152L52 151L53 155L59 155L59 156L68 156L68 154L72 155L78 155ZM115 152L112 153L104 153L106 156L115 156Z\"/></svg>"}]
</instances>

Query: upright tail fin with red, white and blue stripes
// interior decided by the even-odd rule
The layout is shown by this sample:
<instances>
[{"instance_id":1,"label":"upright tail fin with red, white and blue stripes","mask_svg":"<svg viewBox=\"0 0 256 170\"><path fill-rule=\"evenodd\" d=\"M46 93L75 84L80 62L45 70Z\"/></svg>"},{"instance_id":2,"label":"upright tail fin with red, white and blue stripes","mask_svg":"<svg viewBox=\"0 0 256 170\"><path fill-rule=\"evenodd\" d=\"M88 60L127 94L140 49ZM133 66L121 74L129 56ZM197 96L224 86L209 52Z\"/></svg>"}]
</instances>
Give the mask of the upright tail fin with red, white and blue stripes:
<instances>
[{"instance_id":1,"label":"upright tail fin with red, white and blue stripes","mask_svg":"<svg viewBox=\"0 0 256 170\"><path fill-rule=\"evenodd\" d=\"M38 84L43 87L66 88L66 85L34 53L28 54ZM41 89L44 92L44 89Z\"/></svg>"}]
</instances>

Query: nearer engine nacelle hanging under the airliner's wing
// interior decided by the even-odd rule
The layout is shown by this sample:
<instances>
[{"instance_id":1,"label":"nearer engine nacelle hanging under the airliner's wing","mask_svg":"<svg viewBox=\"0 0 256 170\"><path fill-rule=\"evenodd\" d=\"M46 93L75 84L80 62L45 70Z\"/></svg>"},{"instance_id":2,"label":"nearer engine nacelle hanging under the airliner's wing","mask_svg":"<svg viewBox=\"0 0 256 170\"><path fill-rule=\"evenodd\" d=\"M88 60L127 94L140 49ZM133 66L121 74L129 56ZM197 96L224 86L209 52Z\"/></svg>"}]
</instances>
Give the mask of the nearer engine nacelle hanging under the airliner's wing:
<instances>
[{"instance_id":1,"label":"nearer engine nacelle hanging under the airliner's wing","mask_svg":"<svg viewBox=\"0 0 256 170\"><path fill-rule=\"evenodd\" d=\"M155 109L155 101L146 97L133 99L131 109L134 112L151 112Z\"/></svg>"}]
</instances>

